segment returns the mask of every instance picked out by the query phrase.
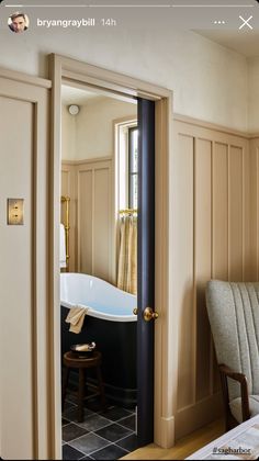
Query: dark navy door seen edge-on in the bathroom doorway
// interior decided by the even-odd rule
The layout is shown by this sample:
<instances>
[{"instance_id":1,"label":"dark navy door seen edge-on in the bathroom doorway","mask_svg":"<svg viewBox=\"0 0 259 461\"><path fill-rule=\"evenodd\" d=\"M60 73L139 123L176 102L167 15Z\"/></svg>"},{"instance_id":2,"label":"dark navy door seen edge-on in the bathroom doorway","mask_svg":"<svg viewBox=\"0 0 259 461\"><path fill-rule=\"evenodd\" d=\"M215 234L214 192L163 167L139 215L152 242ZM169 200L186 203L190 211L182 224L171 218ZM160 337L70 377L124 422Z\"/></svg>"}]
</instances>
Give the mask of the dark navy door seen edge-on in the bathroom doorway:
<instances>
[{"instance_id":1,"label":"dark navy door seen edge-on in the bathroom doorway","mask_svg":"<svg viewBox=\"0 0 259 461\"><path fill-rule=\"evenodd\" d=\"M137 436L143 447L154 440L155 310L155 102L144 99L138 99L137 226Z\"/></svg>"}]
</instances>

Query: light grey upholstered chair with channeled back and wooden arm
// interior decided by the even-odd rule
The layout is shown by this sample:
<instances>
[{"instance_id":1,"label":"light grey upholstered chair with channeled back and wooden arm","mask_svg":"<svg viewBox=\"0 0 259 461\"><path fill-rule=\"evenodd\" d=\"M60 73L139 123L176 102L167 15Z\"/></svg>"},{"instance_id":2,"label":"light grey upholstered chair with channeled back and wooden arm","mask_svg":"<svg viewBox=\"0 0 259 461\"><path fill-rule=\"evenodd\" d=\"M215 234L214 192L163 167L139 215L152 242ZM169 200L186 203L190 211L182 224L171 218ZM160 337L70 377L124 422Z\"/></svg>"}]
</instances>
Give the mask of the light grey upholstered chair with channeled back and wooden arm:
<instances>
[{"instance_id":1,"label":"light grey upholstered chair with channeled back and wooden arm","mask_svg":"<svg viewBox=\"0 0 259 461\"><path fill-rule=\"evenodd\" d=\"M259 283L211 280L206 307L229 430L259 414Z\"/></svg>"}]
</instances>

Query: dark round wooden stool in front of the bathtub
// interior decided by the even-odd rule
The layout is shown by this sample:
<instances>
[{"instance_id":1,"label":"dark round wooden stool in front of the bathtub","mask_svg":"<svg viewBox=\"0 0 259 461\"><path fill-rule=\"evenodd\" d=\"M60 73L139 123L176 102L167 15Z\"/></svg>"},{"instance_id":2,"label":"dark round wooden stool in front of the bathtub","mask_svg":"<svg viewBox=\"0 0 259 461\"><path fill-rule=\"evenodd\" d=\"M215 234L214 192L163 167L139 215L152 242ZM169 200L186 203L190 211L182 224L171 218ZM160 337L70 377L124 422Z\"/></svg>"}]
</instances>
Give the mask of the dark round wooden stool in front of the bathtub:
<instances>
[{"instance_id":1,"label":"dark round wooden stool in front of the bathtub","mask_svg":"<svg viewBox=\"0 0 259 461\"><path fill-rule=\"evenodd\" d=\"M92 398L95 395L101 396L102 408L105 409L105 396L104 396L104 389L102 382L102 373L101 373L101 361L102 355L101 352L94 351L90 357L82 357L78 356L72 351L65 352L63 356L63 362L65 364L65 375L63 381L63 408L65 405L65 398L67 393L67 385L69 373L72 368L78 369L78 421L81 423L83 420L83 401L87 398ZM90 396L85 395L85 387L86 387L86 376L85 372L86 369L95 368L97 378L98 378L98 392L91 394Z\"/></svg>"}]
</instances>

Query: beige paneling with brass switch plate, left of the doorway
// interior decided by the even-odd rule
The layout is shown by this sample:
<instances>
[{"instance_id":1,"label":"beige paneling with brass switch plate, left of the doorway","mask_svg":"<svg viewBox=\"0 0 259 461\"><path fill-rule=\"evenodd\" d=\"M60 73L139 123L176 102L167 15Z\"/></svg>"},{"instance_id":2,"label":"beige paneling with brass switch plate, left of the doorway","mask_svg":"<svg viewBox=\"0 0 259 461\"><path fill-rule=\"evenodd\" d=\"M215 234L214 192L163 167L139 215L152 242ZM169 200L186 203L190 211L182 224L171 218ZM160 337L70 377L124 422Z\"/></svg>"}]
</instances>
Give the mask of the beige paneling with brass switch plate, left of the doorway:
<instances>
[{"instance_id":1,"label":"beige paneling with brass switch plate, left of the doorway","mask_svg":"<svg viewBox=\"0 0 259 461\"><path fill-rule=\"evenodd\" d=\"M0 456L49 459L54 417L47 405L52 386L47 329L50 83L36 78L29 83L22 75L18 81L15 74L7 74L0 77ZM7 224L8 198L24 199L24 225Z\"/></svg>"}]
</instances>

